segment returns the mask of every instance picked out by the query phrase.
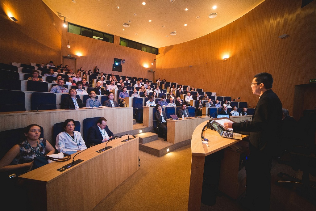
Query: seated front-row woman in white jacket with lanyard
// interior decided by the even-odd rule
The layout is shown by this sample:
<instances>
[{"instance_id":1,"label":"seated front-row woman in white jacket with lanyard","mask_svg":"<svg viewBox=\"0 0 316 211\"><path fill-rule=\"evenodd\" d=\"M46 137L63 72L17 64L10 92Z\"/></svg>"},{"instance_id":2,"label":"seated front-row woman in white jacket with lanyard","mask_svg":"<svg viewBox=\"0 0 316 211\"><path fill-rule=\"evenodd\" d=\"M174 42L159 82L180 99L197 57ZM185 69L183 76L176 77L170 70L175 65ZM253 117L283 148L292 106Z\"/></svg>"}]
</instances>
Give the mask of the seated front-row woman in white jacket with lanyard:
<instances>
[{"instance_id":1,"label":"seated front-row woman in white jacket with lanyard","mask_svg":"<svg viewBox=\"0 0 316 211\"><path fill-rule=\"evenodd\" d=\"M74 131L76 127L75 120L67 119L64 121L64 132L56 137L56 149L58 152L73 154L81 150L87 149L80 132Z\"/></svg>"}]
</instances>

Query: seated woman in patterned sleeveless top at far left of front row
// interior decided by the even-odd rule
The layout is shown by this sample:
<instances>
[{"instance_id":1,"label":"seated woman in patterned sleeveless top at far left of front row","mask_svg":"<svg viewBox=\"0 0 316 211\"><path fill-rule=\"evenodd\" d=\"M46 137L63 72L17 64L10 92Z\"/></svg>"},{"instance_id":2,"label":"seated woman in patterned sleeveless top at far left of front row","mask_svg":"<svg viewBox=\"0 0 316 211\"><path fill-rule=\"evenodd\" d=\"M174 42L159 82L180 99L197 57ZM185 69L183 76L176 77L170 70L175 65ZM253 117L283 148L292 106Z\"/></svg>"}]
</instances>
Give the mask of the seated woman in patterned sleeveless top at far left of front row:
<instances>
[{"instance_id":1,"label":"seated woman in patterned sleeveless top at far left of front row","mask_svg":"<svg viewBox=\"0 0 316 211\"><path fill-rule=\"evenodd\" d=\"M25 173L32 169L33 159L55 153L55 148L44 138L40 138L40 126L25 127L26 140L14 145L0 160L0 172L17 170ZM20 171L21 170L21 171Z\"/></svg>"}]
</instances>

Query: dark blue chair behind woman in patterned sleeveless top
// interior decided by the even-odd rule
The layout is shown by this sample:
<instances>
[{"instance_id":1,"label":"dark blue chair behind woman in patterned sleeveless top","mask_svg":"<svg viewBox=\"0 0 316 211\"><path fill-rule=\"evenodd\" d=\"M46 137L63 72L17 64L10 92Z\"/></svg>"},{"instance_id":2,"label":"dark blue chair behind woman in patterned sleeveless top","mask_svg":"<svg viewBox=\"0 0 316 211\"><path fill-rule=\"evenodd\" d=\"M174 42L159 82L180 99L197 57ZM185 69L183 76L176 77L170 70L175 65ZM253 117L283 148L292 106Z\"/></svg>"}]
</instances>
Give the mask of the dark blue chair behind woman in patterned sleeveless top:
<instances>
[{"instance_id":1,"label":"dark blue chair behind woman in patterned sleeveless top","mask_svg":"<svg viewBox=\"0 0 316 211\"><path fill-rule=\"evenodd\" d=\"M25 127L0 132L0 159L16 144L25 140ZM44 138L44 129L40 126L40 138ZM54 146L55 148L55 146Z\"/></svg>"}]
</instances>

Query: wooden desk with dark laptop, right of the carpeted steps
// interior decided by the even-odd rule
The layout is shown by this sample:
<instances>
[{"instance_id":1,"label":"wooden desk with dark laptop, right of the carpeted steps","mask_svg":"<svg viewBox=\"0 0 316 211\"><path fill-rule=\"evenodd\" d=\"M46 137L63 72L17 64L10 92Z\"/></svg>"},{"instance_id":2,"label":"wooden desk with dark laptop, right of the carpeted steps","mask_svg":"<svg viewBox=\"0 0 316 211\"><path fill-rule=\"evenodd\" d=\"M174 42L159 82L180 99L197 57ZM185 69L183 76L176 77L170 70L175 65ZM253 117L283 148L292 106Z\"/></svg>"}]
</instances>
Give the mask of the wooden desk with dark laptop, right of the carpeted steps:
<instances>
[{"instance_id":1,"label":"wooden desk with dark laptop, right of the carpeted steps","mask_svg":"<svg viewBox=\"0 0 316 211\"><path fill-rule=\"evenodd\" d=\"M167 120L167 141L175 144L191 139L194 129L206 119L208 120L207 117L190 117L190 119L185 118L184 120Z\"/></svg>"}]
</instances>

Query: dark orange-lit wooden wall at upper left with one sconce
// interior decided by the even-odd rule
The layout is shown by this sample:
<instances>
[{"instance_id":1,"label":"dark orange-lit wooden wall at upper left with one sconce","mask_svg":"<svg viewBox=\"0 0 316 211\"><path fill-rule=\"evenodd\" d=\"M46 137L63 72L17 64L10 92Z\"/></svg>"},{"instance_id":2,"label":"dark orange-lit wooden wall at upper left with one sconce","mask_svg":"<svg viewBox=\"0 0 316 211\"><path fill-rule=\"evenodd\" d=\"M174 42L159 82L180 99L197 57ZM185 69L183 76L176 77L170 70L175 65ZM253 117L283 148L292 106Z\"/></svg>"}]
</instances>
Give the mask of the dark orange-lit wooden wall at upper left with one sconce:
<instances>
[{"instance_id":1,"label":"dark orange-lit wooden wall at upper left with one sconce","mask_svg":"<svg viewBox=\"0 0 316 211\"><path fill-rule=\"evenodd\" d=\"M0 7L0 62L60 64L62 20L43 1L0 0Z\"/></svg>"}]
</instances>

